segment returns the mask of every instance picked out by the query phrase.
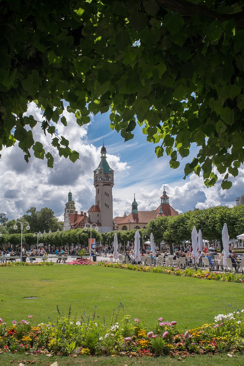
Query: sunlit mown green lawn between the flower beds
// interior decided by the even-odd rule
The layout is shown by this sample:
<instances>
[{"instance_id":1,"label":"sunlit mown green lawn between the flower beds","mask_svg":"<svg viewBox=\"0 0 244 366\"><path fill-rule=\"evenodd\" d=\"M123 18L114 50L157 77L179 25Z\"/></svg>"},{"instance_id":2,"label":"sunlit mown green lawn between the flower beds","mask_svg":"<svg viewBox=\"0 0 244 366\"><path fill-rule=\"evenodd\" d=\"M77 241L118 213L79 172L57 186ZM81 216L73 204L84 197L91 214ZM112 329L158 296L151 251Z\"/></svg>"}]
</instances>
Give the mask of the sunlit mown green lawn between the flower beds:
<instances>
[{"instance_id":1,"label":"sunlit mown green lawn between the flower beds","mask_svg":"<svg viewBox=\"0 0 244 366\"><path fill-rule=\"evenodd\" d=\"M156 318L176 320L178 328L214 322L230 312L228 305L244 308L243 285L190 277L97 266L2 267L0 317L4 321L27 319L33 324L55 320L56 305L65 314L85 312L109 321L122 302L125 313L152 325ZM49 280L49 281L42 281ZM24 299L38 297L38 299Z\"/></svg>"}]
</instances>

